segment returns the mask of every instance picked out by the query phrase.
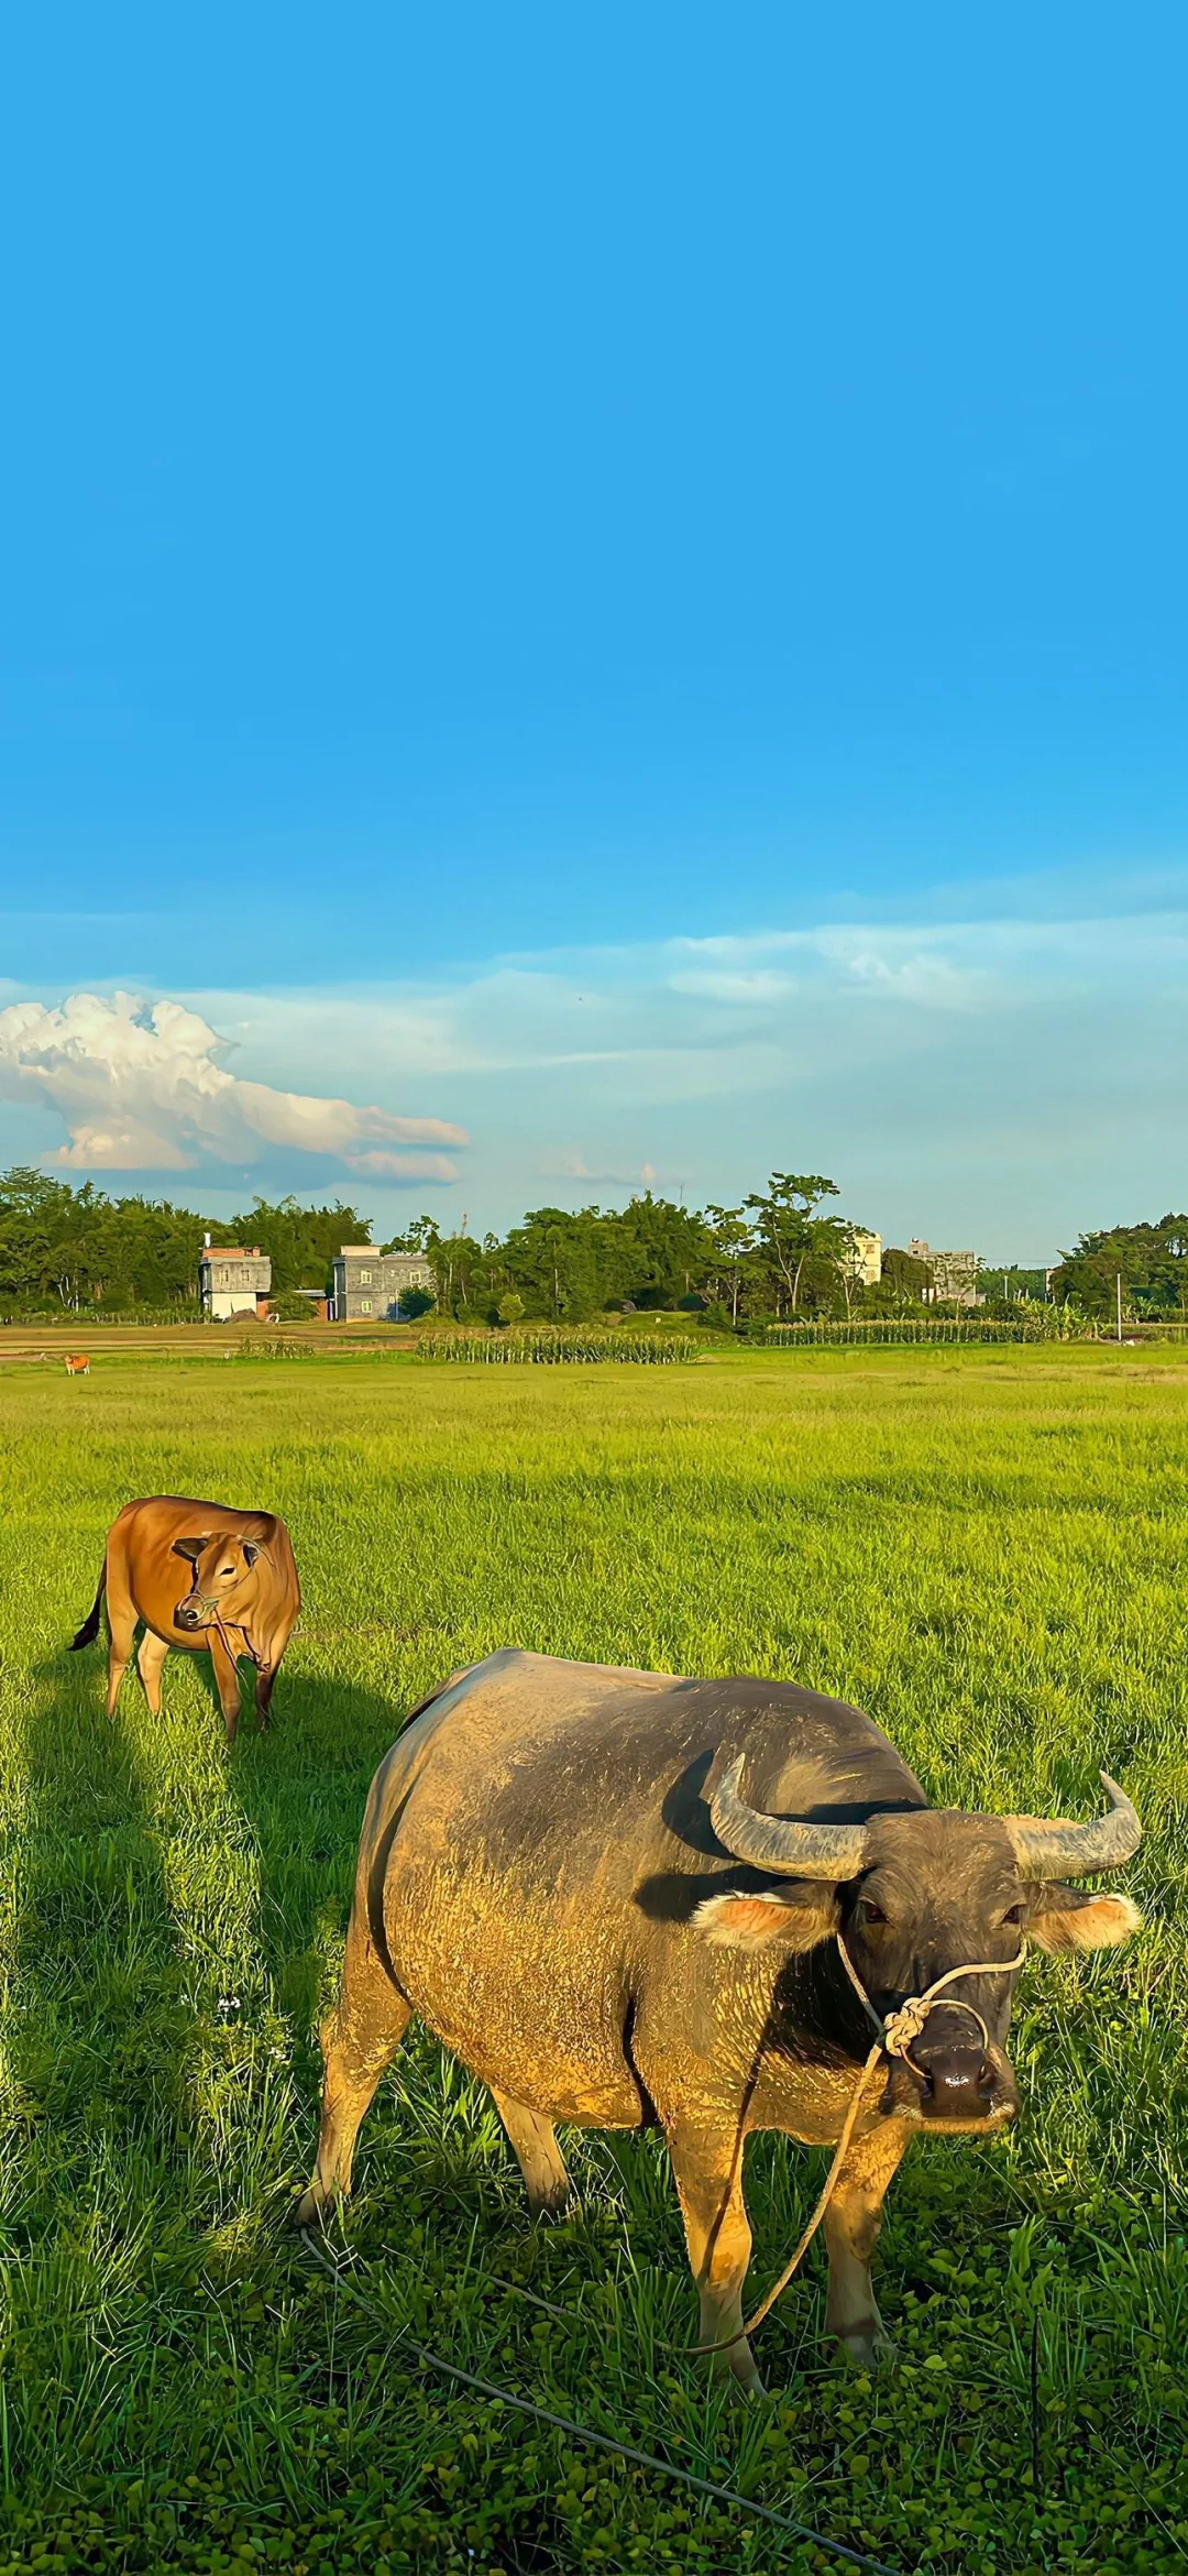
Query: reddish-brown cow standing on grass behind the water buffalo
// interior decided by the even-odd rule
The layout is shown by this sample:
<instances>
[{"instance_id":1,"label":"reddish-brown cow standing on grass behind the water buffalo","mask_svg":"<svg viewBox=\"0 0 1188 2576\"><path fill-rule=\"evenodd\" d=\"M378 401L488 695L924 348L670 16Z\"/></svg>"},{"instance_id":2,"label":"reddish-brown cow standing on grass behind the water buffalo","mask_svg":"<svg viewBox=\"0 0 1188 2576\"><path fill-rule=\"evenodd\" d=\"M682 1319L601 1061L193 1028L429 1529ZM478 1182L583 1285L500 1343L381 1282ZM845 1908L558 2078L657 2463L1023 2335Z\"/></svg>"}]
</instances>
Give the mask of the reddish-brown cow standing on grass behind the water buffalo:
<instances>
[{"instance_id":1,"label":"reddish-brown cow standing on grass behind the water buffalo","mask_svg":"<svg viewBox=\"0 0 1188 2576\"><path fill-rule=\"evenodd\" d=\"M183 1592L183 1566L191 1582ZM268 1726L268 1700L289 1643L302 1587L289 1530L276 1512L232 1512L224 1502L183 1502L155 1494L126 1502L111 1522L98 1592L70 1643L90 1646L108 1600L108 1718L131 1662L137 1620L144 1623L137 1669L152 1716L160 1713L160 1672L170 1646L191 1654L209 1646L227 1739L240 1723L237 1656L255 1664L255 1716Z\"/></svg>"}]
</instances>

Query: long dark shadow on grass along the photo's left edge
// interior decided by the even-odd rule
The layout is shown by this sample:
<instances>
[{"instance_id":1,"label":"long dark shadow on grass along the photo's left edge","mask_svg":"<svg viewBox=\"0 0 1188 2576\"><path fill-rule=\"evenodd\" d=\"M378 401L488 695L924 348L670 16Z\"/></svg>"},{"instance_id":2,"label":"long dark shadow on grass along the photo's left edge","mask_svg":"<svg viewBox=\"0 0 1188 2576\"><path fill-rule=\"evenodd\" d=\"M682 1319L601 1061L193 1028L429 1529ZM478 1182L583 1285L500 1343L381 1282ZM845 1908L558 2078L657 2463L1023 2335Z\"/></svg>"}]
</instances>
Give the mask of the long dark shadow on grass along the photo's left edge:
<instances>
[{"instance_id":1,"label":"long dark shadow on grass along the photo's left edge","mask_svg":"<svg viewBox=\"0 0 1188 2576\"><path fill-rule=\"evenodd\" d=\"M10 1708L8 2437L39 2494L126 2476L155 2372L129 2321L193 2267L193 1999L139 1749L95 1672L52 1656Z\"/></svg>"}]
</instances>

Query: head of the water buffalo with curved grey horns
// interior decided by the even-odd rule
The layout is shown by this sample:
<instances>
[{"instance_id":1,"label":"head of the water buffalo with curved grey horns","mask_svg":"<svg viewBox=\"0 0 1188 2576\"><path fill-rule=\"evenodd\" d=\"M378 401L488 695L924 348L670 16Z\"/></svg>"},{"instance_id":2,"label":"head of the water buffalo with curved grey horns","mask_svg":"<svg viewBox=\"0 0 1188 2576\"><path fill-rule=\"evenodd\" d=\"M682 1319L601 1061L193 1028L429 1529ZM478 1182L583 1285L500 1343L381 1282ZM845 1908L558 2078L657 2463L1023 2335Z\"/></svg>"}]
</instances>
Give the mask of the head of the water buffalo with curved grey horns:
<instances>
[{"instance_id":1,"label":"head of the water buffalo with curved grey horns","mask_svg":"<svg viewBox=\"0 0 1188 2576\"><path fill-rule=\"evenodd\" d=\"M740 1777L742 1759L714 1790L714 1832L727 1852L778 1873L781 1883L711 1896L696 1914L704 1937L719 1947L796 1953L840 1935L884 2020L948 1968L1002 1960L1000 1973L959 1978L938 1996L910 2056L886 2061L884 2107L946 2130L1013 2120L1008 1963L1026 1940L1041 1950L1100 1950L1142 1922L1129 1896L1087 1896L1054 1875L1090 1875L1131 1857L1142 1826L1124 1790L1103 1772L1111 1814L1095 1824L935 1808L868 1824L791 1824L750 1808ZM979 2014L984 2038L959 1996Z\"/></svg>"}]
</instances>

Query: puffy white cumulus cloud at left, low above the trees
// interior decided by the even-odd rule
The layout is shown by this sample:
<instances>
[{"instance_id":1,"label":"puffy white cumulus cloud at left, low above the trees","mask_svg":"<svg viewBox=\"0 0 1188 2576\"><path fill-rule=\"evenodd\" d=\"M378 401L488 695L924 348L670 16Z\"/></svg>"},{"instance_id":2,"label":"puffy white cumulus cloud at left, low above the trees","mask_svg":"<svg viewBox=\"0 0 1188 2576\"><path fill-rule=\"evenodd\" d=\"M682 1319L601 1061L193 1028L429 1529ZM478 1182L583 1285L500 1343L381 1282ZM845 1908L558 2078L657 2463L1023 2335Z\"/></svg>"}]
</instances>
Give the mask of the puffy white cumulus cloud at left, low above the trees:
<instances>
[{"instance_id":1,"label":"puffy white cumulus cloud at left, low above the trees","mask_svg":"<svg viewBox=\"0 0 1188 2576\"><path fill-rule=\"evenodd\" d=\"M186 1172L258 1162L268 1149L322 1154L384 1180L454 1180L443 1154L392 1146L464 1144L441 1118L394 1118L312 1092L245 1082L219 1061L216 1030L183 1002L75 992L57 1010L0 1010L0 1097L64 1121L46 1162L82 1172Z\"/></svg>"}]
</instances>

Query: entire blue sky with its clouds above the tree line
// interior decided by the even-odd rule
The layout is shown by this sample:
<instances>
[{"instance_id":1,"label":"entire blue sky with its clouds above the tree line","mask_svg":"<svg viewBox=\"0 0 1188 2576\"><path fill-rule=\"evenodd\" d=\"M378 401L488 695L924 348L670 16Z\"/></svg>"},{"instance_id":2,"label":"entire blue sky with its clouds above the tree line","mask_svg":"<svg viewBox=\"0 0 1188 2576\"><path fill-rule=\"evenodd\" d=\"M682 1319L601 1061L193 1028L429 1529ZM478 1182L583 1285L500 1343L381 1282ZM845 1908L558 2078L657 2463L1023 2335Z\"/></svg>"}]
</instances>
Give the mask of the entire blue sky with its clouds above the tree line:
<instances>
[{"instance_id":1,"label":"entire blue sky with its clouds above the tree line","mask_svg":"<svg viewBox=\"0 0 1188 2576\"><path fill-rule=\"evenodd\" d=\"M21 13L0 1159L1183 1206L1185 52Z\"/></svg>"}]
</instances>

